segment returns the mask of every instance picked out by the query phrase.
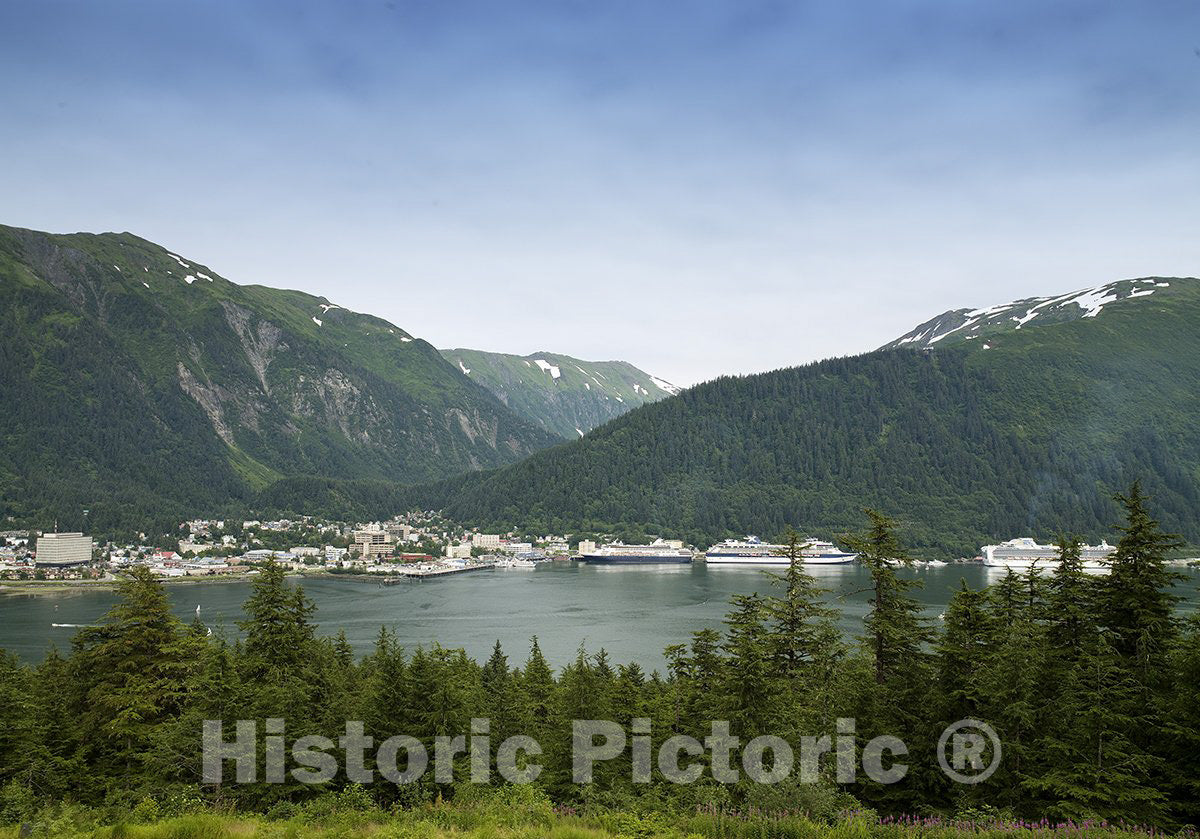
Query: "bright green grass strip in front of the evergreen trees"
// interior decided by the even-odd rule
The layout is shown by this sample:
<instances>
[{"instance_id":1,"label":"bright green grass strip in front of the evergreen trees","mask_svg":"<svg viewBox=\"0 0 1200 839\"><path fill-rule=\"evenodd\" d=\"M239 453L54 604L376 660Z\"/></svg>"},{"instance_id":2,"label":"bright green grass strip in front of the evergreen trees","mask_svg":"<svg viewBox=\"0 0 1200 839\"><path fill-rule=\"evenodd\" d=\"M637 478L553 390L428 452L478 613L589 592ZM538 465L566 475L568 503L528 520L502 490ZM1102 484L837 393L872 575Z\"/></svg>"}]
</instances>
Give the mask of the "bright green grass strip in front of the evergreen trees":
<instances>
[{"instance_id":1,"label":"bright green grass strip in front of the evergreen trees","mask_svg":"<svg viewBox=\"0 0 1200 839\"><path fill-rule=\"evenodd\" d=\"M362 787L325 793L304 804L280 803L266 815L210 809L191 797L160 804L145 798L125 808L59 804L13 821L0 809L0 839L1150 839L1171 835L1104 822L1049 825L966 813L958 820L884 819L844 813L828 819L803 811L763 813L556 808L545 793L521 786L468 790L454 803L382 809ZM25 833L22 833L25 825ZM1192 829L1178 837L1195 838Z\"/></svg>"}]
</instances>

